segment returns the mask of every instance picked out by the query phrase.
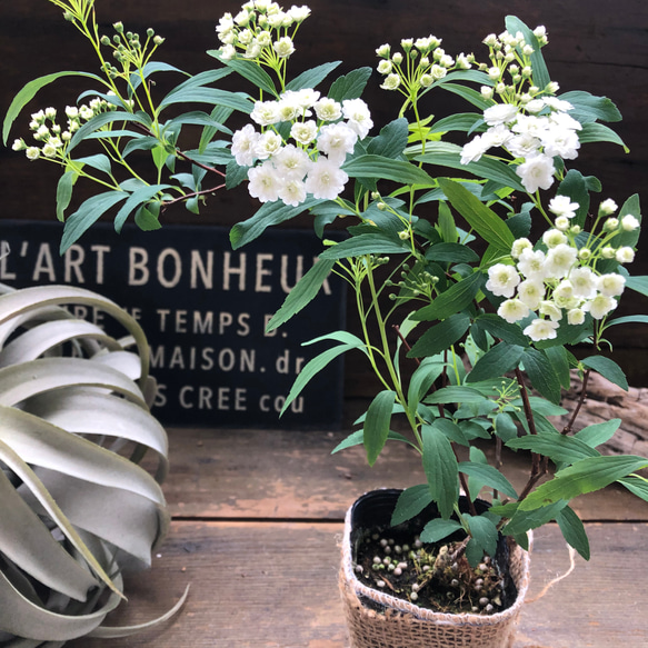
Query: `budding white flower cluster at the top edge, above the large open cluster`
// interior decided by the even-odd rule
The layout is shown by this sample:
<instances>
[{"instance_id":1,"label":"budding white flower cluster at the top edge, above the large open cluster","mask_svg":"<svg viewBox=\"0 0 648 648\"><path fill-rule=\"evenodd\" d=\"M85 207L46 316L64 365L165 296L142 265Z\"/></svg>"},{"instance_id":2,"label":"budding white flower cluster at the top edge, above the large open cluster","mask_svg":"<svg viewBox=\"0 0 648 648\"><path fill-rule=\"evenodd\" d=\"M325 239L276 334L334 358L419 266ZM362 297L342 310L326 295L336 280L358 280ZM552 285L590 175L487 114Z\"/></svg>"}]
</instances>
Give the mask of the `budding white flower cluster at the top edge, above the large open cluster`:
<instances>
[{"instance_id":1,"label":"budding white flower cluster at the top edge, above the large open cluster","mask_svg":"<svg viewBox=\"0 0 648 648\"><path fill-rule=\"evenodd\" d=\"M223 46L221 56L230 60L240 50L246 59L259 59L268 53L287 59L295 51L293 34L290 36L288 29L296 29L309 16L310 9L306 6L293 6L283 11L277 2L269 0L246 2L236 16L226 13L216 27Z\"/></svg>"}]
</instances>

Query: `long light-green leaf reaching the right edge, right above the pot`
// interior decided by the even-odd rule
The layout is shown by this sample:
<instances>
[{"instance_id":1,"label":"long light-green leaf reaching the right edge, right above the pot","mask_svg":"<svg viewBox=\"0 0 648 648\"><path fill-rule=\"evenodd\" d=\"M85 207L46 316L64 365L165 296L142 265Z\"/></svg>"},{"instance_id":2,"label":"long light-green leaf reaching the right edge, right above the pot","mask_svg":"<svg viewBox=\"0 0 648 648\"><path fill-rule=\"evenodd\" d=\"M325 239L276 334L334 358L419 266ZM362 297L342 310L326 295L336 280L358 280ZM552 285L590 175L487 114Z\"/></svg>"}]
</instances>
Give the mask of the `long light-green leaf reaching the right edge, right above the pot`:
<instances>
[{"instance_id":1,"label":"long light-green leaf reaching the right edge, right above the pot","mask_svg":"<svg viewBox=\"0 0 648 648\"><path fill-rule=\"evenodd\" d=\"M648 459L632 455L588 457L556 472L550 481L539 486L521 504L520 510L532 510L558 500L600 490L621 477L648 466Z\"/></svg>"}]
</instances>

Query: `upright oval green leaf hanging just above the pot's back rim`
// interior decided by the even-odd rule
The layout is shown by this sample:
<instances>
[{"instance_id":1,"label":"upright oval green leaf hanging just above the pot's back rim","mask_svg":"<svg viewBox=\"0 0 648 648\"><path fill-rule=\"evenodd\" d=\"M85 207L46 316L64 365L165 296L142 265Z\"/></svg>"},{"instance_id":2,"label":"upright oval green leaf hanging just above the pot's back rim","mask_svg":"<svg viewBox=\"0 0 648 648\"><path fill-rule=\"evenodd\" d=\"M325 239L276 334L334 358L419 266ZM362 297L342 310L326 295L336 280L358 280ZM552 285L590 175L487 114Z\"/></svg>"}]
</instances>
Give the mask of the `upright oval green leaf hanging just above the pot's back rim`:
<instances>
[{"instance_id":1,"label":"upright oval green leaf hanging just above the pot's back rim","mask_svg":"<svg viewBox=\"0 0 648 648\"><path fill-rule=\"evenodd\" d=\"M439 514L447 520L459 499L459 471L457 458L448 438L432 426L422 426L422 463L430 495L439 507Z\"/></svg>"}]
</instances>

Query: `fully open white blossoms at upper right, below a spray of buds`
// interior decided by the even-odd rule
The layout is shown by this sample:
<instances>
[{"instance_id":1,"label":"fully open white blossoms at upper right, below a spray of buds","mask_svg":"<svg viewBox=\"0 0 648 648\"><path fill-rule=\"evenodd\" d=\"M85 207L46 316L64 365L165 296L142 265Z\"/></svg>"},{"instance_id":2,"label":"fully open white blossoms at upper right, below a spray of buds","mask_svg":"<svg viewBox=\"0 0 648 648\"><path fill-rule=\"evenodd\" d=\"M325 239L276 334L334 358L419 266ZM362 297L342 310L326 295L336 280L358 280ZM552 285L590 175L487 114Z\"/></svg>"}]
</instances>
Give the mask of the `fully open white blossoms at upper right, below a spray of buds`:
<instances>
[{"instance_id":1,"label":"fully open white blossoms at upper right, below a spray of buds","mask_svg":"<svg viewBox=\"0 0 648 648\"><path fill-rule=\"evenodd\" d=\"M481 158L491 148L504 148L521 162L516 173L529 193L549 189L556 168L554 158L574 160L578 156L581 124L568 114L574 107L556 97L537 97L526 103L497 103L483 111L489 127L463 146L461 163Z\"/></svg>"}]
</instances>

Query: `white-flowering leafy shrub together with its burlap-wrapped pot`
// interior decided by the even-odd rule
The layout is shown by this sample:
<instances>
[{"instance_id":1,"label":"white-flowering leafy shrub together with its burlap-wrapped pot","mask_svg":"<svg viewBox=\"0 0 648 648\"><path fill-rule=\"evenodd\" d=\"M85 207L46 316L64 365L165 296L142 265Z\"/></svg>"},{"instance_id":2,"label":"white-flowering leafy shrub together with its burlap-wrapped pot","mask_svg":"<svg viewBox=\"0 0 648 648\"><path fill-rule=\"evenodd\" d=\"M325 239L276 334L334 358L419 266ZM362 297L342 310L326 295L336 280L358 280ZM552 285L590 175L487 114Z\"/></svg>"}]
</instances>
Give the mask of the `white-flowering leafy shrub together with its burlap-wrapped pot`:
<instances>
[{"instance_id":1,"label":"white-flowering leafy shrub together with its burlap-wrapped pot","mask_svg":"<svg viewBox=\"0 0 648 648\"><path fill-rule=\"evenodd\" d=\"M101 86L83 94L97 97L93 103L67 109L67 128L47 109L32 114L36 143L13 144L62 166L62 250L103 213L114 216L118 230L131 215L140 228L158 228L169 205L197 211L206 196L243 182L262 205L232 229L235 248L309 213L322 253L269 329L306 308L335 272L351 287L359 333L308 342L332 346L302 369L285 407L335 358L359 352L379 387L359 429L336 450L363 445L372 465L387 441L405 442L427 477L399 494L379 492L378 504L362 498L349 512L360 525L345 540L342 567L352 642L508 645L528 582L529 532L556 520L589 558L570 500L612 482L648 499L638 475L648 459L597 450L619 420L578 430L582 401L564 429L548 419L565 413L560 395L570 370L584 382L596 371L627 387L618 365L601 355L606 335L646 321L614 316L625 290L646 293L642 278L626 268L639 237L638 197L620 208L592 200L601 185L574 162L588 142L625 147L604 123L620 119L612 101L560 92L541 53L545 28L507 17L482 53L447 53L433 36L380 46L381 87L403 99L395 119L372 132L360 98L371 69L329 82L337 63L322 63L289 80L293 38L309 10L283 11L269 0L223 16L221 48L209 52L217 67L183 77L157 99L149 78L177 71L152 59L160 37L140 38L121 23L102 36L90 0L51 1L92 42L104 73L84 73ZM7 116L6 141L26 102L68 73L23 89ZM241 91L213 87L231 73ZM466 112L435 121L428 94L441 90L462 98ZM167 117L169 107L185 104L207 110ZM225 122L233 112L249 118L230 137ZM182 147L186 124L202 128L192 149ZM103 150L81 156L91 144ZM153 179L133 171L136 151L150 151ZM83 178L101 192L66 218ZM326 228L342 217L348 238L328 240ZM483 442L495 446L492 465ZM505 446L530 452L519 492L501 471ZM411 538L402 525L412 527ZM441 604L432 590L443 582ZM365 629L369 620L377 630ZM504 629L495 627L499 620ZM450 626L460 638L448 638Z\"/></svg>"}]
</instances>

